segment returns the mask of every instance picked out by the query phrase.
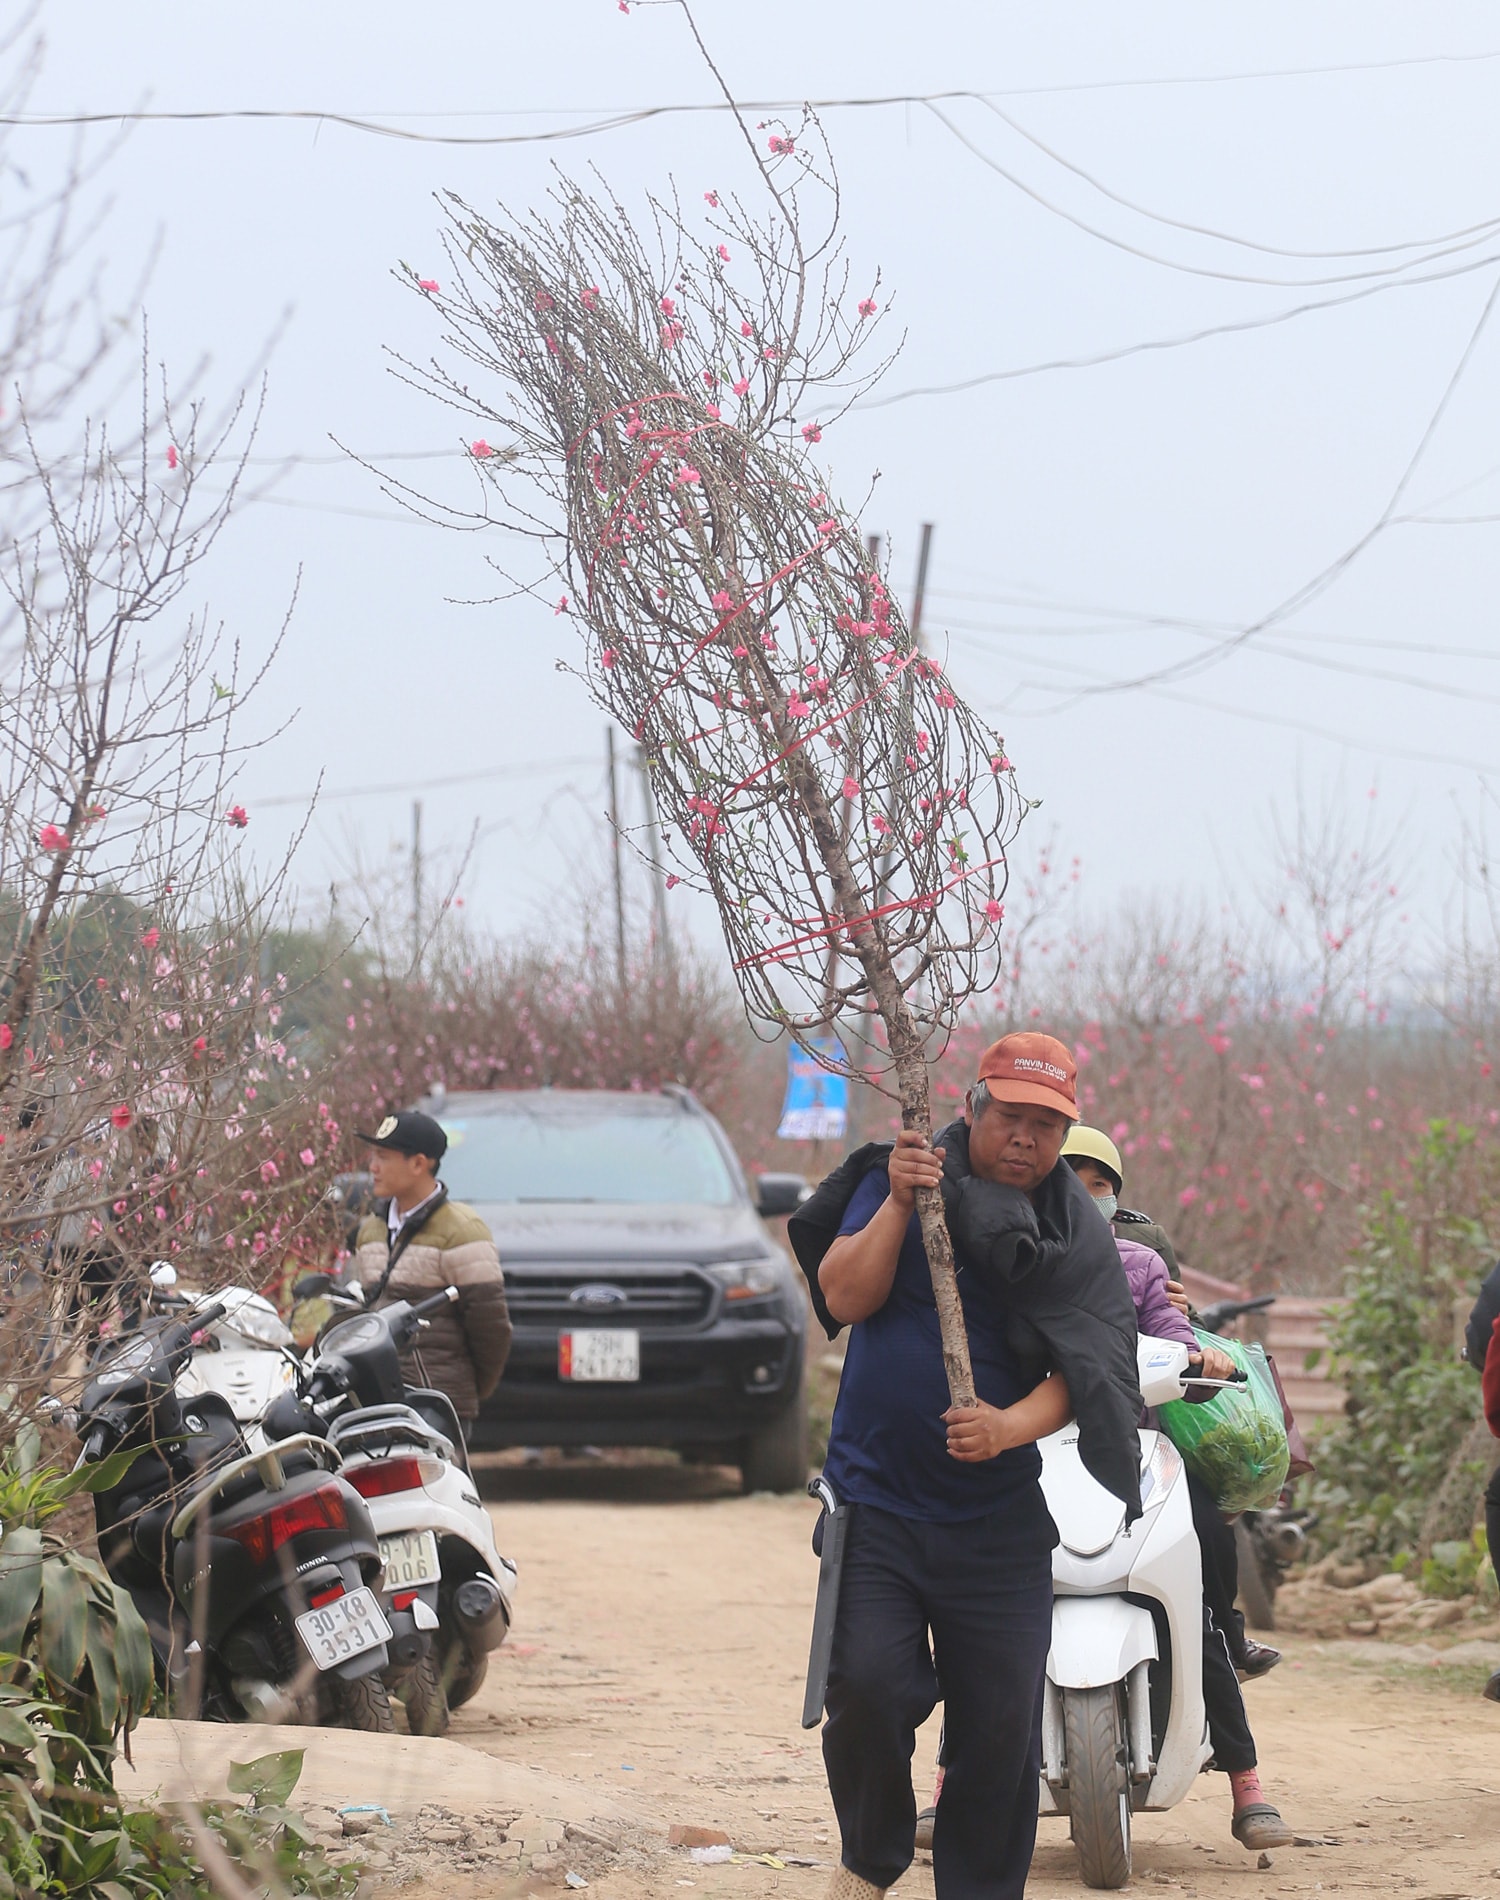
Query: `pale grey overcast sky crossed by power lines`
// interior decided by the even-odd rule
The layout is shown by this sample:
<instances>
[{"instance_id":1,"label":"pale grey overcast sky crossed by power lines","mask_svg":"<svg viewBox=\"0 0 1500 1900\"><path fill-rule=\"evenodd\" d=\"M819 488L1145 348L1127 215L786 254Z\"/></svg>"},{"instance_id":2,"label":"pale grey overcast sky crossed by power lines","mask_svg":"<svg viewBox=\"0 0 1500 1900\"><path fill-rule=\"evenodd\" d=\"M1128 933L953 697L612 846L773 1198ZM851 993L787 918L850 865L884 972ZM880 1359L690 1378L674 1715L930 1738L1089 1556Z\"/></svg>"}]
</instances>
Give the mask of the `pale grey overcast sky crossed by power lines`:
<instances>
[{"instance_id":1,"label":"pale grey overcast sky crossed by power lines","mask_svg":"<svg viewBox=\"0 0 1500 1900\"><path fill-rule=\"evenodd\" d=\"M1095 906L1260 882L1298 785L1357 823L1376 787L1439 906L1500 705L1494 11L700 0L698 17L745 99L989 99L941 103L956 129L922 103L825 110L856 279L880 268L909 340L890 401L821 454L850 498L882 471L865 528L903 595L935 524L928 633ZM713 97L671 4L53 0L42 30L49 112L298 108L515 137ZM40 175L67 139L15 150ZM603 876L603 720L555 671L568 623L452 604L487 591L483 547L403 517L333 443L452 456L390 464L418 481L462 469L462 422L390 374L390 350L437 338L392 268L439 274L433 192L519 209L551 163L597 165L627 201L743 175L722 114L489 146L144 124L110 162L116 287L162 239L154 352L207 353L230 390L287 319L257 454L310 460L243 511L203 585L257 652L302 574L260 712L298 716L238 792L270 849L323 775L304 891L357 849L388 857L416 796L432 849L479 826L470 916L529 925ZM905 395L998 372L1023 374ZM1357 549L1403 479L1394 515L1416 519L1228 644ZM340 796L361 787L395 790Z\"/></svg>"}]
</instances>

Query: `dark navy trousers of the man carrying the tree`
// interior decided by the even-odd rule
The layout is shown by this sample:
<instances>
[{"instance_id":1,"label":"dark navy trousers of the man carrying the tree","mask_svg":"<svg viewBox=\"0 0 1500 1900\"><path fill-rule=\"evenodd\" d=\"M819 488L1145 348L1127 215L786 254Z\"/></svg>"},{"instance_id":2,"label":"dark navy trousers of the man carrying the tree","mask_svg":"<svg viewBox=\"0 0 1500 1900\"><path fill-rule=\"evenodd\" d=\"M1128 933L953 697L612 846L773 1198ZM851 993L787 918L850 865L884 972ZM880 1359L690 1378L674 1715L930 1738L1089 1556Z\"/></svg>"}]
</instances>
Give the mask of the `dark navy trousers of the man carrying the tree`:
<instances>
[{"instance_id":1,"label":"dark navy trousers of the man carrying the tree","mask_svg":"<svg viewBox=\"0 0 1500 1900\"><path fill-rule=\"evenodd\" d=\"M854 1507L823 1761L842 1860L861 1879L894 1887L911 1866L911 1758L941 1676L937 1900L1021 1900L1036 1845L1055 1543L1036 1484L962 1524Z\"/></svg>"}]
</instances>

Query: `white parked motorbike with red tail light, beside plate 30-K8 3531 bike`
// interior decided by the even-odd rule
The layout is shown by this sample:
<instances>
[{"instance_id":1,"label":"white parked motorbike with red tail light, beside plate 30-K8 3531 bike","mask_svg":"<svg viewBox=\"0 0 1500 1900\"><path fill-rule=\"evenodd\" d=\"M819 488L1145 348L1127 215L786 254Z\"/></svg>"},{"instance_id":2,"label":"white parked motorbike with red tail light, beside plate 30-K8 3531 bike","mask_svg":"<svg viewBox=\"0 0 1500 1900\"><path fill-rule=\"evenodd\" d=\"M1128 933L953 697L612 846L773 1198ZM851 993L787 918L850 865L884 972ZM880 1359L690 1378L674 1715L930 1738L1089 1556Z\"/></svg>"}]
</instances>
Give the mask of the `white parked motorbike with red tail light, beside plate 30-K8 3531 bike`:
<instances>
[{"instance_id":1,"label":"white parked motorbike with red tail light, beside plate 30-K8 3531 bike","mask_svg":"<svg viewBox=\"0 0 1500 1900\"><path fill-rule=\"evenodd\" d=\"M449 1710L479 1689L515 1596L515 1566L496 1548L452 1400L401 1378L424 1315L456 1298L447 1288L329 1326L300 1393L266 1414L270 1440L325 1433L369 1505L394 1632L386 1685L422 1735L441 1735Z\"/></svg>"}]
</instances>

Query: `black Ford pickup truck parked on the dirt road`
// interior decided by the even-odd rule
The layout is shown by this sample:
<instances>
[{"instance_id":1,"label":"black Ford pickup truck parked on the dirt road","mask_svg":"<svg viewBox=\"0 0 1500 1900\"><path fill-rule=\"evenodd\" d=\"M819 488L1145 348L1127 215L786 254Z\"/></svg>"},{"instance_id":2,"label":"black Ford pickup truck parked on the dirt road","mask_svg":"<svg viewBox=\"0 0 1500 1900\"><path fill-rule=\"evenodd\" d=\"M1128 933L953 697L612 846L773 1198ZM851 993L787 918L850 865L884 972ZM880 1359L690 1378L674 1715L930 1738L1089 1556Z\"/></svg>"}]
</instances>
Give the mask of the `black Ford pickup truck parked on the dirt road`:
<instances>
[{"instance_id":1,"label":"black Ford pickup truck parked on the dirt road","mask_svg":"<svg viewBox=\"0 0 1500 1900\"><path fill-rule=\"evenodd\" d=\"M806 1193L745 1180L684 1089L534 1089L432 1104L443 1180L489 1222L515 1340L473 1427L502 1446L673 1446L745 1490L808 1476L808 1302L764 1220Z\"/></svg>"}]
</instances>

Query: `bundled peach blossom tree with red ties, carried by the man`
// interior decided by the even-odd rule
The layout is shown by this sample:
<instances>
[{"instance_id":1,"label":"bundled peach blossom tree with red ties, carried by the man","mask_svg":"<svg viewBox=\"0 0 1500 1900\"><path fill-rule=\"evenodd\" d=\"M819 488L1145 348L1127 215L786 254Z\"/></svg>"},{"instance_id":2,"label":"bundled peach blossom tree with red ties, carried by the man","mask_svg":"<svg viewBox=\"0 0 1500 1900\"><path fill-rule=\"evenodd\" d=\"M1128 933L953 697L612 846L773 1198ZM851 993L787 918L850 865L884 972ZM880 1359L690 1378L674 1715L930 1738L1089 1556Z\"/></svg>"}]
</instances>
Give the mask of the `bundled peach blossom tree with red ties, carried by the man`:
<instances>
[{"instance_id":1,"label":"bundled peach blossom tree with red ties, carried by the man","mask_svg":"<svg viewBox=\"0 0 1500 1900\"><path fill-rule=\"evenodd\" d=\"M445 353L407 374L485 428L477 502L439 515L530 538L510 585L578 627L591 697L644 750L667 884L713 901L751 1022L930 1132L928 1064L994 980L1025 802L817 467L882 367L819 127L741 129L753 203L637 220L568 179L529 217L449 198L447 287L409 274ZM937 1189L918 1214L971 1402Z\"/></svg>"}]
</instances>

